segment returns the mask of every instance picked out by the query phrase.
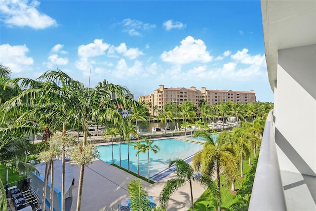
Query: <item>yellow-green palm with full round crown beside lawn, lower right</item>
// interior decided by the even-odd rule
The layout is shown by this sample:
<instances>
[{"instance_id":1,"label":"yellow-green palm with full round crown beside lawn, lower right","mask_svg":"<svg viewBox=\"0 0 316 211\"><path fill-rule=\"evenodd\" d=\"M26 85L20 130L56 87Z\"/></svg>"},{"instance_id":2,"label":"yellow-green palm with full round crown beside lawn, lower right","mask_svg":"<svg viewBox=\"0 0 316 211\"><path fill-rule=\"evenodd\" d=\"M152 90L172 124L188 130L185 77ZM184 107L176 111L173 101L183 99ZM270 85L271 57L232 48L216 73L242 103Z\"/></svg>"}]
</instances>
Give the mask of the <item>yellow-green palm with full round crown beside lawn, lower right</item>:
<instances>
[{"instance_id":1,"label":"yellow-green palm with full round crown beside lawn, lower right","mask_svg":"<svg viewBox=\"0 0 316 211\"><path fill-rule=\"evenodd\" d=\"M195 136L205 138L205 143L202 151L198 152L193 157L193 167L195 170L200 170L202 174L212 176L214 171L217 180L217 204L218 211L221 211L221 181L220 170L223 174L228 175L227 178L233 178L237 174L237 163L235 161L235 153L231 147L231 135L223 131L217 138L217 143L213 141L212 136L205 130L200 130L195 133Z\"/></svg>"}]
</instances>

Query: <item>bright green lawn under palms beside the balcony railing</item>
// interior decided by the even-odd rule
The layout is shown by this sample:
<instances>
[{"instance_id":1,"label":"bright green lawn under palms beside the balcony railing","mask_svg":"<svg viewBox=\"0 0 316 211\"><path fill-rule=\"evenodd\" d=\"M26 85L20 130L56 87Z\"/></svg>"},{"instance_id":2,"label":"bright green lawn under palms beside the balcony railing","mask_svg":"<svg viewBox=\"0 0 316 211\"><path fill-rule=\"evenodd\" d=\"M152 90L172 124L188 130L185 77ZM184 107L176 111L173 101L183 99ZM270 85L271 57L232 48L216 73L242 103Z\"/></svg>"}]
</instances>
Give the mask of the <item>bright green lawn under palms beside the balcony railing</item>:
<instances>
[{"instance_id":1,"label":"bright green lawn under palms beside the balcony railing","mask_svg":"<svg viewBox=\"0 0 316 211\"><path fill-rule=\"evenodd\" d=\"M258 153L258 152L257 152ZM253 153L251 155L251 164L254 163ZM248 165L248 159L243 161L243 178L246 173L249 171L251 166ZM240 172L239 172L240 174ZM232 184L226 184L225 178L221 175L221 185L224 184L226 187L221 187L221 208L222 210L228 210L228 208L233 204L235 195L229 191ZM239 183L242 183L243 178L238 178L238 182L235 183L235 188L239 189ZM194 188L194 187L193 187ZM210 193L209 190L204 191L204 193L197 199L194 203L194 210L195 211L207 211L207 204L209 205L209 210L215 211L217 207L215 207L216 202L214 201L214 197ZM189 211L192 209L190 208Z\"/></svg>"}]
</instances>

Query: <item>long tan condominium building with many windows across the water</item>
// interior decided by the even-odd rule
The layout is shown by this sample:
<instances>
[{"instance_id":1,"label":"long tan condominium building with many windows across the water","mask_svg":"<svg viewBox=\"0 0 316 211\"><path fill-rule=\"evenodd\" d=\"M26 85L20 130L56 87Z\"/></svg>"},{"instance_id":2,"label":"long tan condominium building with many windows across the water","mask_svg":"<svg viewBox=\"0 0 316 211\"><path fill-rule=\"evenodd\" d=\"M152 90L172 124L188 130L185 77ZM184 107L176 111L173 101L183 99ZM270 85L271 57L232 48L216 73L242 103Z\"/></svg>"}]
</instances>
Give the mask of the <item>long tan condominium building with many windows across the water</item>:
<instances>
[{"instance_id":1,"label":"long tan condominium building with many windows across the water","mask_svg":"<svg viewBox=\"0 0 316 211\"><path fill-rule=\"evenodd\" d=\"M149 113L151 115L154 115L154 108L161 110L166 103L174 102L178 106L181 103L189 101L199 106L202 99L208 105L219 104L222 101L252 103L256 102L256 94L254 90L208 90L205 87L201 87L201 90L198 90L195 86L191 86L190 88L165 88L164 85L159 85L159 88L154 90L153 94L138 97L139 102L144 101L151 104L149 106Z\"/></svg>"}]
</instances>

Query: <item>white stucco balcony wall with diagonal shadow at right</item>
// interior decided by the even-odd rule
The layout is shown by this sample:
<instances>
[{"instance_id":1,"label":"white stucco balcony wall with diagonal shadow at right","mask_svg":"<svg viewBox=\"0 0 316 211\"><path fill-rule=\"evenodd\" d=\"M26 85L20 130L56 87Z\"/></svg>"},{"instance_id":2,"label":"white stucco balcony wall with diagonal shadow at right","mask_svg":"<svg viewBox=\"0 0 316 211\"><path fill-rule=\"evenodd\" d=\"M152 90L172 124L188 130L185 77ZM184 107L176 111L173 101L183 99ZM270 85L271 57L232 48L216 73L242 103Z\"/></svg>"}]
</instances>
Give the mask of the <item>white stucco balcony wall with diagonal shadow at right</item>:
<instances>
[{"instance_id":1,"label":"white stucco balcony wall with diagonal shadow at right","mask_svg":"<svg viewBox=\"0 0 316 211\"><path fill-rule=\"evenodd\" d=\"M316 172L316 45L278 51L276 144L281 170Z\"/></svg>"}]
</instances>

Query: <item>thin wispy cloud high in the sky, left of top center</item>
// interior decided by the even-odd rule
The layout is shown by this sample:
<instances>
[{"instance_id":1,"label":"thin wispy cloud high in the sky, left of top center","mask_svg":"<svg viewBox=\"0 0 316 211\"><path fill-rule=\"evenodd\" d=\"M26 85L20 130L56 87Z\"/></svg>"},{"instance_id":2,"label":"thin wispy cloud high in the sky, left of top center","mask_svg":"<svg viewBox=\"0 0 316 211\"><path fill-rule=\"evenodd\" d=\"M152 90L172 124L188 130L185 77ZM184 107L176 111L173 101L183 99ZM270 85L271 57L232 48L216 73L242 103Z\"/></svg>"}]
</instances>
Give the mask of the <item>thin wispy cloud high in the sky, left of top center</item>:
<instances>
[{"instance_id":1,"label":"thin wispy cloud high in the sky, left of top center","mask_svg":"<svg viewBox=\"0 0 316 211\"><path fill-rule=\"evenodd\" d=\"M140 36L139 31L150 30L155 28L155 24L143 23L139 20L133 20L130 18L122 20L123 32L127 32L130 36Z\"/></svg>"}]
</instances>

